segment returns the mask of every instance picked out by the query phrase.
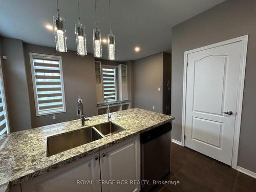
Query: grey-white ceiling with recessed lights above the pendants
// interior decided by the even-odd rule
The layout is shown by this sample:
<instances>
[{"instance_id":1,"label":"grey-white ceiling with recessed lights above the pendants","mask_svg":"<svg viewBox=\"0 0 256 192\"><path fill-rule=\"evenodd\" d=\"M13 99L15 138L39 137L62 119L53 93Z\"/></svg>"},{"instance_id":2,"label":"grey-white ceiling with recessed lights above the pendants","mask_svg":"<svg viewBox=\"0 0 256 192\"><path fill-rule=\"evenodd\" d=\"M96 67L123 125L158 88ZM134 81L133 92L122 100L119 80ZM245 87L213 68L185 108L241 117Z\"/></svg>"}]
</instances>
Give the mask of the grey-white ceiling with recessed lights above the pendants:
<instances>
[{"instance_id":1,"label":"grey-white ceiling with recessed lights above the pendants","mask_svg":"<svg viewBox=\"0 0 256 192\"><path fill-rule=\"evenodd\" d=\"M171 50L172 27L225 0L111 0L112 31L116 36L116 60L135 60ZM0 0L0 35L24 42L55 47L52 25L57 14L55 0ZM76 50L74 25L77 1L59 0L60 15L66 19L68 50ZM109 34L108 0L97 0L98 28ZM80 0L80 16L86 26L87 49L93 53L94 0ZM134 48L141 50L137 53ZM102 47L107 58L106 45Z\"/></svg>"}]
</instances>

